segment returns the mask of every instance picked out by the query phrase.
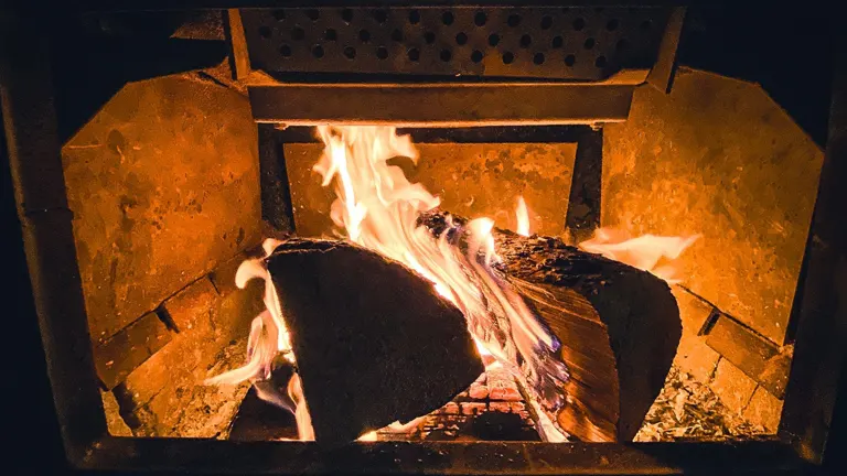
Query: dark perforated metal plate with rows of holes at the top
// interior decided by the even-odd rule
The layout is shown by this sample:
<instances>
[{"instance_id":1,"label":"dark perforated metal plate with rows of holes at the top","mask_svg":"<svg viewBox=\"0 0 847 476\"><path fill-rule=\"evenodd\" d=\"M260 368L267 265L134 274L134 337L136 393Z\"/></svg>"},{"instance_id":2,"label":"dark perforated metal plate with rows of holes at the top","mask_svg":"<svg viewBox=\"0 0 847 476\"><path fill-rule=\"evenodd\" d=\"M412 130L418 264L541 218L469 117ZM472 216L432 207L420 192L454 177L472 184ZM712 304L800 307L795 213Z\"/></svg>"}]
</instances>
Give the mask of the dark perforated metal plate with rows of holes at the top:
<instances>
[{"instance_id":1,"label":"dark perforated metal plate with rows of holes at the top","mask_svg":"<svg viewBox=\"0 0 847 476\"><path fill-rule=\"evenodd\" d=\"M651 67L662 8L250 9L253 68L598 80Z\"/></svg>"}]
</instances>

